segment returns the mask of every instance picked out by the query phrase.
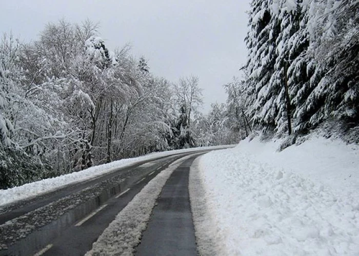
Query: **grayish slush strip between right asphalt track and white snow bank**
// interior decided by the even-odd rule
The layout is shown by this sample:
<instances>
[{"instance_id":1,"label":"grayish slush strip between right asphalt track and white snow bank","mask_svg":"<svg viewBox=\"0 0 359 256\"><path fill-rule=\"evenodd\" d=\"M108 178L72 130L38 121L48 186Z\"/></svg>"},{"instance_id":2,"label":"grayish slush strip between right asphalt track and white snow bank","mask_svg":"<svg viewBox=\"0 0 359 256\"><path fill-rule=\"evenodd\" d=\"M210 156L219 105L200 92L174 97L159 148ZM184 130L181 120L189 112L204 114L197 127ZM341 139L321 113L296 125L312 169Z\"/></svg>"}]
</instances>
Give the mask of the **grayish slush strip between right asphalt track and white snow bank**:
<instances>
[{"instance_id":1,"label":"grayish slush strip between right asphalt track and white snow bank","mask_svg":"<svg viewBox=\"0 0 359 256\"><path fill-rule=\"evenodd\" d=\"M222 239L216 237L217 230L213 226L211 212L207 209L205 189L198 169L200 159L196 158L190 167L188 184L197 250L202 256L221 255Z\"/></svg>"}]
</instances>

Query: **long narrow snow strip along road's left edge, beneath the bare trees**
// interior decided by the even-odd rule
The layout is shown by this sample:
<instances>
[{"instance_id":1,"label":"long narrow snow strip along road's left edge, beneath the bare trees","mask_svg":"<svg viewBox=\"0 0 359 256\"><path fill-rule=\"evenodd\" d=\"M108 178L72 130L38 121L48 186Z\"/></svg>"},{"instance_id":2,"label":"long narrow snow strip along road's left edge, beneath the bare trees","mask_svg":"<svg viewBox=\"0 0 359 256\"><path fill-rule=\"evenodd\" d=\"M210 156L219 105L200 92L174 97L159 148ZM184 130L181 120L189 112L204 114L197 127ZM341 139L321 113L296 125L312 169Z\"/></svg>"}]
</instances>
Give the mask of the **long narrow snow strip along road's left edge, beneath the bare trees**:
<instances>
[{"instance_id":1,"label":"long narrow snow strip along road's left edge, beneath the bare trees","mask_svg":"<svg viewBox=\"0 0 359 256\"><path fill-rule=\"evenodd\" d=\"M106 173L113 172L118 168L131 166L139 161L146 161L151 159L155 160L156 158L159 157L172 156L179 153L196 152L206 149L210 150L210 149L225 148L225 147L233 147L233 145L197 147L197 148L187 148L184 150L152 153L141 157L122 159L107 164L93 166L88 169L82 170L81 172L74 172L71 174L66 174L55 178L36 181L18 187L13 187L9 189L0 189L0 206L13 203L18 200L29 199L37 195L48 193L50 191L59 189L69 184L90 180L97 176L101 176Z\"/></svg>"}]
</instances>

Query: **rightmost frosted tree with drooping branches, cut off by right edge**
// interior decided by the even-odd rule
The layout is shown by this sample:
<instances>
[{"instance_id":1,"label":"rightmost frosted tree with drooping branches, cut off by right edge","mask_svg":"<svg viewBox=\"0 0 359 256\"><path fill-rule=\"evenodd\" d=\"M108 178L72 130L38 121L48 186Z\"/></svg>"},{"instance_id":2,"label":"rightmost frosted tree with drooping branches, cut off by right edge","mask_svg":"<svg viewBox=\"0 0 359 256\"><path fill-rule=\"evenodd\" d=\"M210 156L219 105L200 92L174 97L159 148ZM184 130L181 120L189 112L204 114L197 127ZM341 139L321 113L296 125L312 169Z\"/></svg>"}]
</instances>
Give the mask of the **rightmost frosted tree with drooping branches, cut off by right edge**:
<instances>
[{"instance_id":1,"label":"rightmost frosted tree with drooping branches, cut off by right edge","mask_svg":"<svg viewBox=\"0 0 359 256\"><path fill-rule=\"evenodd\" d=\"M351 0L313 1L310 5L309 56L324 72L308 97L315 112L311 124L339 118L359 124L359 3Z\"/></svg>"}]
</instances>

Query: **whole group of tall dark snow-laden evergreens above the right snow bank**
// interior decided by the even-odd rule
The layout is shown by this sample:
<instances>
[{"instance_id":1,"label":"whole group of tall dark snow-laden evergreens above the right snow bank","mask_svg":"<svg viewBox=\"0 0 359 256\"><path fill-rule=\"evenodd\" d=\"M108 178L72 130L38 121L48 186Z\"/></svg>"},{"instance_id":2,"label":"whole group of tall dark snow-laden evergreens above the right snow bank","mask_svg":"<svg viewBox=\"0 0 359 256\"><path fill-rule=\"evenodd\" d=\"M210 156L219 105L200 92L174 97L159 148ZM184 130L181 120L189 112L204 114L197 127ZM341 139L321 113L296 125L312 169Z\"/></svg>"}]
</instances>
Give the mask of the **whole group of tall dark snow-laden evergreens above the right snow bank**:
<instances>
[{"instance_id":1,"label":"whole group of tall dark snow-laden evergreens above the right snow bank","mask_svg":"<svg viewBox=\"0 0 359 256\"><path fill-rule=\"evenodd\" d=\"M331 123L358 141L358 10L351 0L252 0L246 76L227 85L228 101L256 130L295 138Z\"/></svg>"}]
</instances>

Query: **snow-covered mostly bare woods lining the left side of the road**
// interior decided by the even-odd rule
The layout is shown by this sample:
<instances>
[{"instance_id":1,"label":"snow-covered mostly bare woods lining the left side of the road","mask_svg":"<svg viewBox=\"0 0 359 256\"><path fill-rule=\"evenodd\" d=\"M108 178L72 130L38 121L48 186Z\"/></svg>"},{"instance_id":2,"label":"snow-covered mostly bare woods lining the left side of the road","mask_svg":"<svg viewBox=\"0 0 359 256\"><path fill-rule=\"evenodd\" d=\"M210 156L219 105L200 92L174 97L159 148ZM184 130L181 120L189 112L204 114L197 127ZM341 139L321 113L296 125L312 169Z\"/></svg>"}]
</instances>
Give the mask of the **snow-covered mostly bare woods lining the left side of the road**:
<instances>
[{"instance_id":1,"label":"snow-covered mostly bare woods lining the left side of the road","mask_svg":"<svg viewBox=\"0 0 359 256\"><path fill-rule=\"evenodd\" d=\"M150 73L110 51L96 24L61 20L23 44L0 42L0 188L113 160L221 143L200 113L198 78ZM206 139L203 139L206 138Z\"/></svg>"}]
</instances>

